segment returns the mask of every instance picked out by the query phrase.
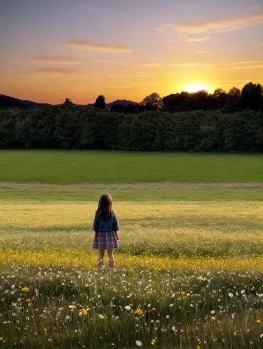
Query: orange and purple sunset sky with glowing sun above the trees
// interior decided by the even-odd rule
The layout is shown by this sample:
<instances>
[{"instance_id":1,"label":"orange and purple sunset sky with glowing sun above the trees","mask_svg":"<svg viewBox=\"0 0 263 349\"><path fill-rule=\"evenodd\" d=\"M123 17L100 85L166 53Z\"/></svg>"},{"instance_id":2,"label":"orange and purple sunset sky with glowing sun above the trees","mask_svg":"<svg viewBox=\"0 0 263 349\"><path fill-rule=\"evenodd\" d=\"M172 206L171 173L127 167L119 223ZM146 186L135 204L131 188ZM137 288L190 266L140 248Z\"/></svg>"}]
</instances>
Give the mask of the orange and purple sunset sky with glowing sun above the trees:
<instances>
[{"instance_id":1,"label":"orange and purple sunset sky with glowing sun above the trees","mask_svg":"<svg viewBox=\"0 0 263 349\"><path fill-rule=\"evenodd\" d=\"M140 102L263 84L262 0L1 0L0 94Z\"/></svg>"}]
</instances>

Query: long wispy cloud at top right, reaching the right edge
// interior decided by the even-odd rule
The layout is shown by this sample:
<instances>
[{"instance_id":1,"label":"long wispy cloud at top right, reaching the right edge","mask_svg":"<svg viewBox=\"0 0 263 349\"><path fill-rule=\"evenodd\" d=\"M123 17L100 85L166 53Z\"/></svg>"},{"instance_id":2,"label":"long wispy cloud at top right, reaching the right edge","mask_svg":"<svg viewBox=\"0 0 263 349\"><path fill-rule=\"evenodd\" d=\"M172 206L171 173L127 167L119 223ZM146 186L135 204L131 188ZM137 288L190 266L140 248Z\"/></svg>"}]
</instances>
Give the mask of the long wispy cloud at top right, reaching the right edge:
<instances>
[{"instance_id":1,"label":"long wispy cloud at top right, reaching the right edge","mask_svg":"<svg viewBox=\"0 0 263 349\"><path fill-rule=\"evenodd\" d=\"M246 10L246 12L236 13L234 15L225 15L221 17L213 17L210 20L193 20L176 22L174 24L164 24L161 29L165 31L177 31L186 34L222 33L225 31L238 30L250 27L255 24L263 23L263 8L259 10Z\"/></svg>"}]
</instances>

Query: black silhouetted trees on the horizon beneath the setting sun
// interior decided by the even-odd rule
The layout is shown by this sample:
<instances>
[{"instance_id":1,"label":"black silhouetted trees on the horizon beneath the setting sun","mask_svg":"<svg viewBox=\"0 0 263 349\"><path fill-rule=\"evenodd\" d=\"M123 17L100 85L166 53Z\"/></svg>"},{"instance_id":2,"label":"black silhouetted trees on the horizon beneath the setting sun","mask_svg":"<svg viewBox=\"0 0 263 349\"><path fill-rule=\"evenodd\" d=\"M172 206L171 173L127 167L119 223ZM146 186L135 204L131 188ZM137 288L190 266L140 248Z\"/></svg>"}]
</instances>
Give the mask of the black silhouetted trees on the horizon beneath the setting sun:
<instances>
[{"instance_id":1,"label":"black silhouetted trees on the horizon beneath the setting sun","mask_svg":"<svg viewBox=\"0 0 263 349\"><path fill-rule=\"evenodd\" d=\"M105 109L105 96L98 96L94 107ZM242 90L232 87L226 92L216 89L213 94L201 90L196 93L186 91L180 94L170 94L163 98L154 92L146 96L139 104L127 106L115 104L110 109L112 112L133 114L145 110L161 110L163 112L190 112L191 110L222 110L225 113L239 112L241 110L263 110L263 87L261 84L249 82Z\"/></svg>"}]
</instances>

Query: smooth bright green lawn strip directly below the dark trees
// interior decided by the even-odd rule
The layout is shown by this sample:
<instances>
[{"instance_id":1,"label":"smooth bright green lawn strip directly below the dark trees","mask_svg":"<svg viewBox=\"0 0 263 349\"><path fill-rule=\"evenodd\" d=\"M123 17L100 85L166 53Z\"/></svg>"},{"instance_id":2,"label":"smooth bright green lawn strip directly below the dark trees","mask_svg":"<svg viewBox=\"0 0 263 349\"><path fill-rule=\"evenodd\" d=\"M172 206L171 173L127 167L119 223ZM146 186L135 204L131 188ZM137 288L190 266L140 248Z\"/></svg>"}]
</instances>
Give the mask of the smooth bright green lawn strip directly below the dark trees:
<instances>
[{"instance_id":1,"label":"smooth bright green lawn strip directly below the dark trees","mask_svg":"<svg viewBox=\"0 0 263 349\"><path fill-rule=\"evenodd\" d=\"M121 184L263 182L261 154L1 150L0 182Z\"/></svg>"}]
</instances>

